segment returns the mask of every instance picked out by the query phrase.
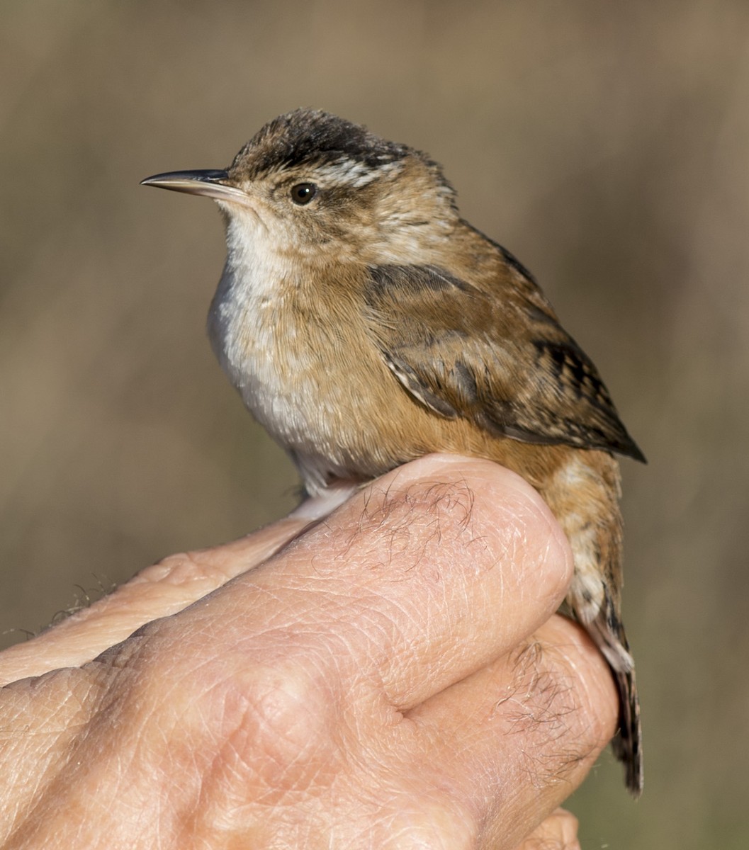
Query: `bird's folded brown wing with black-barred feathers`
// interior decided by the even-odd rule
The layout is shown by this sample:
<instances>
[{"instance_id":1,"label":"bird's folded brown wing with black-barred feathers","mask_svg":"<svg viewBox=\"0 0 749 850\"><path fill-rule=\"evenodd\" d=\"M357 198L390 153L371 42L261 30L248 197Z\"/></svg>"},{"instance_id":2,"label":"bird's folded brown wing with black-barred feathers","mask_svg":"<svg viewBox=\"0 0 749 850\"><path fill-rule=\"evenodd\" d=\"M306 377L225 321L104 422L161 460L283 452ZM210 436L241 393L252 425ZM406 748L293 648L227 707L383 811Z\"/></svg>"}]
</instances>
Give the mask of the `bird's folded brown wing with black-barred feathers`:
<instances>
[{"instance_id":1,"label":"bird's folded brown wing with black-barred feathers","mask_svg":"<svg viewBox=\"0 0 749 850\"><path fill-rule=\"evenodd\" d=\"M531 284L489 293L436 266L372 266L366 321L394 376L436 415L644 460L595 366Z\"/></svg>"}]
</instances>

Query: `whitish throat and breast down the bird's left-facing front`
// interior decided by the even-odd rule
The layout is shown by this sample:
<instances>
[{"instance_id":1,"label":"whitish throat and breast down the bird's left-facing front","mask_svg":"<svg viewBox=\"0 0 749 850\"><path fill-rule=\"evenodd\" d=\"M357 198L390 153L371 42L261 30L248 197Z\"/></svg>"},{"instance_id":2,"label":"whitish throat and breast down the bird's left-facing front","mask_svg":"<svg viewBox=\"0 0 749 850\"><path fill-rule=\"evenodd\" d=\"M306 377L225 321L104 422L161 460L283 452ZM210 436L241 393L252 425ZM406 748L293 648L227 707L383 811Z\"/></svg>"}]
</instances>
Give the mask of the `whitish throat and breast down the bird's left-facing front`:
<instances>
[{"instance_id":1,"label":"whitish throat and breast down the bird's left-facing front","mask_svg":"<svg viewBox=\"0 0 749 850\"><path fill-rule=\"evenodd\" d=\"M262 224L235 215L228 256L208 314L213 350L247 408L292 453L309 491L345 477L338 451L342 399L321 398L320 380L336 358L320 338L309 342L311 317L299 309L301 269L274 250ZM299 323L306 322L306 326ZM333 395L343 391L334 382Z\"/></svg>"}]
</instances>

